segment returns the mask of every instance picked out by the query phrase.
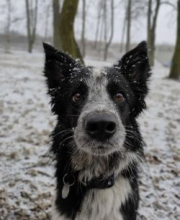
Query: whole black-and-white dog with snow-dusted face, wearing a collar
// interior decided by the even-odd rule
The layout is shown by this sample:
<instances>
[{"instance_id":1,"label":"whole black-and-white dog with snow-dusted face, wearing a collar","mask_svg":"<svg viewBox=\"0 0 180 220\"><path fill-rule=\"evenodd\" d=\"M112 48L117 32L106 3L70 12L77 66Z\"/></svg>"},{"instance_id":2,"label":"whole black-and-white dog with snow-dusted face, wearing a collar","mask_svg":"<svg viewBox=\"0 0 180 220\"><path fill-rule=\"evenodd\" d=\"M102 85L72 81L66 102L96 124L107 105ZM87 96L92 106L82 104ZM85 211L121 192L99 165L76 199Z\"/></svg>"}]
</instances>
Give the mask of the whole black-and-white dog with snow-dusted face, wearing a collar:
<instances>
[{"instance_id":1,"label":"whole black-and-white dog with snow-dusted face, wearing a collar","mask_svg":"<svg viewBox=\"0 0 180 220\"><path fill-rule=\"evenodd\" d=\"M43 44L44 74L57 125L53 220L136 220L144 161L137 117L151 75L141 42L112 67L86 67Z\"/></svg>"}]
</instances>

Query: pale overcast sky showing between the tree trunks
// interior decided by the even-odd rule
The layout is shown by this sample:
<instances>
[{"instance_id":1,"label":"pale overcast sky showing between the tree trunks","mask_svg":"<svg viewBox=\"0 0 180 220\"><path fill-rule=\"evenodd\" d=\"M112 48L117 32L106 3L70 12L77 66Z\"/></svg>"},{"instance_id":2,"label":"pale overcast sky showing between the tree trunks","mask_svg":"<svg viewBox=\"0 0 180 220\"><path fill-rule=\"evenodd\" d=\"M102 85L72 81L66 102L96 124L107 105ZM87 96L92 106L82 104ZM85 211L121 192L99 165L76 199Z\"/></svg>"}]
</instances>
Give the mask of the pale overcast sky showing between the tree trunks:
<instances>
[{"instance_id":1,"label":"pale overcast sky showing between the tree trunks","mask_svg":"<svg viewBox=\"0 0 180 220\"><path fill-rule=\"evenodd\" d=\"M26 34L26 19L25 19L25 0L16 0L12 1L12 19L16 17L23 18L21 21L12 24L11 30L18 31L22 34ZM45 19L47 5L49 4L48 10L50 11L49 19L49 35L52 34L52 0L43 0L39 1L39 13L38 13L38 34L44 35L45 32ZM170 2L176 4L177 0L171 0ZM124 19L124 5L119 4L119 0L115 0L115 32L114 32L114 42L120 42L123 19ZM86 24L86 38L94 40L95 36L95 27L97 20L97 1L87 0L87 24ZM6 20L7 20L7 11L6 11L6 0L0 0L0 31L4 32ZM78 16L76 18L75 32L76 36L80 36L81 32L81 0L78 10ZM131 30L131 41L138 43L141 40L146 39L146 17L142 16L138 21L132 22ZM176 40L176 11L173 10L171 6L162 5L159 11L158 23L157 23L157 32L156 32L156 42L158 44L174 44Z\"/></svg>"}]
</instances>

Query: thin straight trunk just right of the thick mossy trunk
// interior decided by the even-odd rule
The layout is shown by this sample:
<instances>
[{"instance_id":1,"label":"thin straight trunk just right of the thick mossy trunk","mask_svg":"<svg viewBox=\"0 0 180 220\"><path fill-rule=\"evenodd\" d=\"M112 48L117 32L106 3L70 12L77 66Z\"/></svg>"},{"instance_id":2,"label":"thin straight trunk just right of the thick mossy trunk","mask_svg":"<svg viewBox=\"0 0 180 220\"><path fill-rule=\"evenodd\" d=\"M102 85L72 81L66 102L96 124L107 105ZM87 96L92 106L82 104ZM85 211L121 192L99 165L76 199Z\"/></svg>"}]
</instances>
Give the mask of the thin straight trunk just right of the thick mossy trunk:
<instances>
[{"instance_id":1,"label":"thin straight trunk just right of the thick mossy trunk","mask_svg":"<svg viewBox=\"0 0 180 220\"><path fill-rule=\"evenodd\" d=\"M85 57L85 25L86 25L86 0L83 0L82 4L82 33L81 33L81 44L82 44L82 56Z\"/></svg>"}]
</instances>

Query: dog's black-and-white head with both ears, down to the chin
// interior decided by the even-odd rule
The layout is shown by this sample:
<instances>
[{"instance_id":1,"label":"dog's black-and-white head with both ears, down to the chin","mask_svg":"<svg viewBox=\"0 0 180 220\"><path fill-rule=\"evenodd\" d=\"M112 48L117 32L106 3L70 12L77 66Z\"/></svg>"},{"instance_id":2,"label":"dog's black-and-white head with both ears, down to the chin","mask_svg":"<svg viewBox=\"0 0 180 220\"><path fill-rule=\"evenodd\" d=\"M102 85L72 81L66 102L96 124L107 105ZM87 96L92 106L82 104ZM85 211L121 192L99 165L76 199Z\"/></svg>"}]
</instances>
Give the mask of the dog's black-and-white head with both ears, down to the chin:
<instances>
[{"instance_id":1,"label":"dog's black-and-white head with both ears, down to the chin","mask_svg":"<svg viewBox=\"0 0 180 220\"><path fill-rule=\"evenodd\" d=\"M132 130L145 108L150 76L146 43L117 65L103 69L84 67L47 44L44 48L45 76L59 134L69 132L71 147L91 155L135 151L130 142L136 144L131 137L137 134Z\"/></svg>"}]
</instances>

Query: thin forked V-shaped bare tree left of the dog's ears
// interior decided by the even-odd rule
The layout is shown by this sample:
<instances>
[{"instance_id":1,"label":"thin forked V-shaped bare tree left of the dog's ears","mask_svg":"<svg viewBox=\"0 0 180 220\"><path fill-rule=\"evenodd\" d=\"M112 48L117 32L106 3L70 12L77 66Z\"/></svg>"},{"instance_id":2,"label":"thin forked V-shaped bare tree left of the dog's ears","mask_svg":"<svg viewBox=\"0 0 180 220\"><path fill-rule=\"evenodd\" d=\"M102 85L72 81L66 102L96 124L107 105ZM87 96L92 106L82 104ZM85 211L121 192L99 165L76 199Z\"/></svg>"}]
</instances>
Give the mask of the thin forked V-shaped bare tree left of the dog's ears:
<instances>
[{"instance_id":1,"label":"thin forked V-shaped bare tree left of the dog's ears","mask_svg":"<svg viewBox=\"0 0 180 220\"><path fill-rule=\"evenodd\" d=\"M35 0L33 8L33 1L26 1L26 19L27 19L27 35L28 35L28 52L32 53L33 45L36 39L36 26L37 26L37 12L38 0Z\"/></svg>"}]
</instances>

